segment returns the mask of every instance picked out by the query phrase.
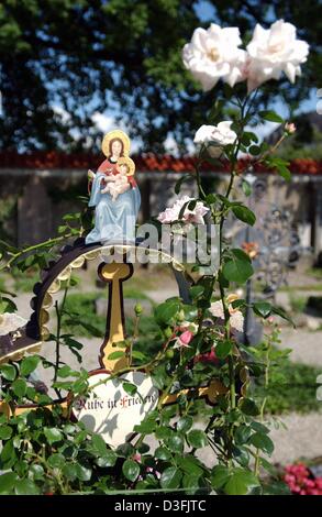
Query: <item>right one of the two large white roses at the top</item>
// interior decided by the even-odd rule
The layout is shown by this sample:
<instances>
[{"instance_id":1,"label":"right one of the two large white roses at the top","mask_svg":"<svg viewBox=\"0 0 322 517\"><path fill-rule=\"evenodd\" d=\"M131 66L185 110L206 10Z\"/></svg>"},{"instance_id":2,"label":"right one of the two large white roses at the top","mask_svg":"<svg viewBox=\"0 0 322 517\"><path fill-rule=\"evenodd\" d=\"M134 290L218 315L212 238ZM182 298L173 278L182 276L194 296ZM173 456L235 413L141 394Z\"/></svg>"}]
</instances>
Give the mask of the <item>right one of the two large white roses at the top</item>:
<instances>
[{"instance_id":1,"label":"right one of the two large white roses at the top","mask_svg":"<svg viewBox=\"0 0 322 517\"><path fill-rule=\"evenodd\" d=\"M295 25L278 20L268 30L256 25L247 52L248 91L252 91L266 80L279 79L282 72L295 82L301 74L300 64L307 61L309 45L297 40Z\"/></svg>"}]
</instances>

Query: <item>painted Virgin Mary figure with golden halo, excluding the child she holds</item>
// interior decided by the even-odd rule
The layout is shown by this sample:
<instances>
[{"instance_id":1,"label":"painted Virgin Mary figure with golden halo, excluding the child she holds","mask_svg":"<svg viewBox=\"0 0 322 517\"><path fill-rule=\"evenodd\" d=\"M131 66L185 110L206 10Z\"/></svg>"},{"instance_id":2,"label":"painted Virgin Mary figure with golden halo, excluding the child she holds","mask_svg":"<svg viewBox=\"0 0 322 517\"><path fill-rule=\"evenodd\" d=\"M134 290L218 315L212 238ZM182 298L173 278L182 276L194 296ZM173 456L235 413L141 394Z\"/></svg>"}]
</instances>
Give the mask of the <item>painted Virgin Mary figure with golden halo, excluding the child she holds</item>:
<instances>
[{"instance_id":1,"label":"painted Virgin Mary figure with golden halo, excluding the child she holds","mask_svg":"<svg viewBox=\"0 0 322 517\"><path fill-rule=\"evenodd\" d=\"M107 176L118 174L118 161L129 157L130 139L123 131L110 131L103 139L102 151L107 160L100 164L97 174L92 175L88 206L95 207L95 228L87 235L86 244L135 243L141 194L133 178L134 170L129 175L130 188L115 200L109 193L102 194Z\"/></svg>"}]
</instances>

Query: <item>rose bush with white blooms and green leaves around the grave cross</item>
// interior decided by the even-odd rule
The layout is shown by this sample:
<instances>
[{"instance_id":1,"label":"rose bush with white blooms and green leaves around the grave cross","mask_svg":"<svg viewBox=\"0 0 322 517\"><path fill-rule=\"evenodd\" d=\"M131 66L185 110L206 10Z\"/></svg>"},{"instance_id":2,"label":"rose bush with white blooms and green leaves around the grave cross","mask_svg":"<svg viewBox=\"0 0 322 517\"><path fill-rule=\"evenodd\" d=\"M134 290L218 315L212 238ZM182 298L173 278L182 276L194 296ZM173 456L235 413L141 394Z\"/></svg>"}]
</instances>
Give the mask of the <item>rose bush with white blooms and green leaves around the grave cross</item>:
<instances>
[{"instance_id":1,"label":"rose bush with white blooms and green leaves around the grave cross","mask_svg":"<svg viewBox=\"0 0 322 517\"><path fill-rule=\"evenodd\" d=\"M204 90L210 90L219 78L231 86L242 79L247 80L248 90L253 90L255 70L256 85L271 77L278 78L281 72L293 79L308 51L308 45L299 43L295 30L282 21L268 32L257 28L247 53L240 48L241 43L235 28L221 29L212 24L208 31L197 29L191 43L184 48L185 66L200 80ZM0 469L5 471L0 475L0 493L273 493L265 479L260 477L263 470L270 472L267 455L274 451L269 422L265 419L266 396L263 400L255 399L251 381L259 378L267 388L271 369L277 367L278 358L285 356L286 352L274 348L278 341L276 329L253 348L241 343L237 332L243 330L246 309L266 321L271 315L286 319L288 316L268 301L249 304L234 294L236 287L252 277L252 258L256 253L232 248L224 239L224 223L229 216L249 226L256 221L256 216L243 200L232 199L233 189L238 191L236 180L245 195L252 191L245 175L249 161L241 162L241 152L254 156L253 166L268 166L286 179L290 178L288 162L276 157L274 151L291 133L291 128L288 127L274 147L259 142L256 134L246 129L251 121L284 123L271 111L254 112L255 95L247 94L246 89L227 89L225 98L219 100L221 107L225 105L227 109L224 122L216 120L214 102L214 109L196 135L196 142L201 144L192 175L198 196L177 200L158 217L158 224L185 227L203 222L207 215L208 222L219 228L220 261L212 274L203 274L203 264L196 262L193 276L190 276L191 304L184 304L175 297L155 308L154 321L158 330L149 340L157 343L155 353L147 353L144 345L140 348L142 308L138 306L133 336L126 338L121 343L122 351L116 352L118 358L124 355L130 364L111 377L133 370L145 371L162 394L156 409L134 427L136 437L132 442L115 450L109 448L99 435L89 432L81 422L71 418L70 404L78 397L86 397L90 388L88 372L81 365L79 371L70 369L62 362L59 354L63 345L68 346L81 364L82 344L62 331L63 316L84 324L76 312L66 309L66 297L73 285L65 283L63 301L55 307L57 329L49 337L55 343L56 360L51 362L33 355L21 362L0 365ZM233 118L230 117L232 106L235 110ZM212 160L209 156L211 146L220 148L221 160L230 173L224 191L209 190L200 175L202 163ZM185 179L176 185L176 194L179 194ZM70 238L84 237L90 229L87 210L67 215L64 219L60 234L45 243L16 250L2 242L0 271L10 271L12 266L22 272L29 267L42 270L48 266L53 256L57 256L58 245ZM15 311L10 294L3 292L1 301L2 312ZM3 316L2 321L5 318ZM138 353L135 353L134 344L141 350ZM54 404L52 397L41 393L37 386L30 385L30 375L40 363L53 369L56 395L62 397L69 393L67 410ZM208 407L199 396L199 388L214 381L218 386L215 404ZM131 383L124 383L123 387L131 396L140 394L140 387ZM168 396L174 396L175 402L165 406ZM19 414L16 407L22 404L34 404L37 409ZM197 415L203 417L202 429L195 426ZM148 436L156 443L155 450L146 441ZM204 447L210 451L207 464L198 455ZM279 486L275 483L274 493L278 490L285 493L285 484Z\"/></svg>"}]
</instances>

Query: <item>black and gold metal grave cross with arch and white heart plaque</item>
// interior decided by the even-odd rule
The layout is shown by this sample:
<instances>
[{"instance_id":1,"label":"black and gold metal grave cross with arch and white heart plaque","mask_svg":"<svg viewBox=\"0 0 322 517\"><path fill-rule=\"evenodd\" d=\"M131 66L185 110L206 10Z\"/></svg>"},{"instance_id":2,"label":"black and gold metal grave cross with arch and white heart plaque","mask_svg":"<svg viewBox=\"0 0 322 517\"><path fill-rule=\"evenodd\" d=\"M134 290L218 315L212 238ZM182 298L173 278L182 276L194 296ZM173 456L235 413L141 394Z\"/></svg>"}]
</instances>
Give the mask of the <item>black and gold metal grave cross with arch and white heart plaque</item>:
<instances>
[{"instance_id":1,"label":"black and gold metal grave cross with arch and white heart plaque","mask_svg":"<svg viewBox=\"0 0 322 517\"><path fill-rule=\"evenodd\" d=\"M212 380L208 386L199 389L185 389L177 393L163 394L153 385L151 376L146 372L131 371L125 354L121 359L109 359L112 352L121 349L118 343L124 341L125 321L123 307L123 283L131 278L133 265L125 262L126 252L130 248L118 246L123 254L123 262L101 263L98 267L100 279L109 286L109 304L107 314L106 336L100 348L100 369L91 372L89 387L91 392L86 400L78 400L73 407L76 418L82 420L92 431L100 432L106 441L112 447L123 443L133 436L133 428L156 407L157 404L174 404L179 395L188 397L204 397L209 404L214 404L219 394L225 393L225 388L218 380ZM54 296L60 288L60 283L70 277L74 268L81 267L85 261L98 258L101 254L109 254L114 246L85 245L76 242L63 252L62 257L44 272L44 279L34 287L35 297L32 299L32 314L21 337L12 341L10 337L0 338L0 363L18 361L26 353L35 353L48 338L49 331L46 324L49 321L49 308L54 304ZM142 251L142 250L141 250ZM148 251L148 250L147 250ZM155 250L154 250L155 252ZM182 274L182 266L173 257L171 267L175 270L176 278L179 279L179 294L187 293L187 283ZM126 367L130 370L115 376L118 372ZM111 377L112 375L112 377ZM137 386L137 395L132 398L124 392L122 384L132 383ZM67 408L68 400L62 399L59 404ZM34 407L24 406L15 408L15 414L31 410ZM0 403L0 411L8 411L5 405Z\"/></svg>"}]
</instances>

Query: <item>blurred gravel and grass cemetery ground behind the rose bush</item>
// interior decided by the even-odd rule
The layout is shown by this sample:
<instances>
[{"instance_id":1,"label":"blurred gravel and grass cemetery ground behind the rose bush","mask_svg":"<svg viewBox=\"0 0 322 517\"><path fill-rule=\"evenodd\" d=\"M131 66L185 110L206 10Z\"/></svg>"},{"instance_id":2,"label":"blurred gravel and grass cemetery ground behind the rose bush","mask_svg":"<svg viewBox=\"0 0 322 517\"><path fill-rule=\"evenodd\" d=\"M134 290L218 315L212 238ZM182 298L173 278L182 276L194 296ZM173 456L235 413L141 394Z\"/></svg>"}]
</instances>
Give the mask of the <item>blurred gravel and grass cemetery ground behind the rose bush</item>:
<instances>
[{"instance_id":1,"label":"blurred gravel and grass cemetery ground behind the rose bush","mask_svg":"<svg viewBox=\"0 0 322 517\"><path fill-rule=\"evenodd\" d=\"M104 333L107 314L107 292L96 284L96 266L78 271L78 284L73 287L67 298L67 310L79 314L79 326L70 326L65 320L64 331L75 336L84 344L82 365L88 370L98 366L97 354ZM5 287L16 293L15 302L21 316L30 316L32 287L37 278L18 275L14 280L4 279ZM141 346L156 350L162 341L155 339L157 328L151 317L157 302L177 296L177 285L169 268L164 265L137 266L134 276L124 285L124 309L126 330L133 327L133 308L136 302L143 307L140 322ZM279 465L298 460L318 462L322 457L322 400L317 399L317 377L322 374L322 273L310 267L302 260L297 270L290 272L288 285L281 287L276 296L277 305L287 309L297 328L282 322L280 334L281 349L291 349L289 359L281 365L282 380L275 383L268 392L265 424L271 427L271 439L275 443L273 462ZM52 324L55 326L53 315ZM96 336L96 337L92 337ZM154 339L152 339L152 337ZM153 343L153 345L152 345ZM152 348L153 346L153 348ZM53 359L53 342L44 343L41 352ZM69 350L62 350L63 361L77 367L78 362ZM48 371L40 372L44 382L48 382ZM260 386L254 387L258 394ZM199 419L203 411L201 406ZM200 451L203 461L212 458L207 449ZM212 460L213 461L213 460ZM322 460L321 460L322 463Z\"/></svg>"}]
</instances>

